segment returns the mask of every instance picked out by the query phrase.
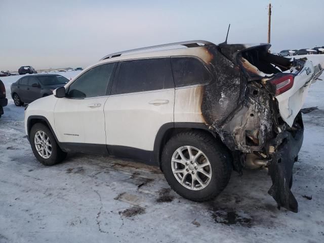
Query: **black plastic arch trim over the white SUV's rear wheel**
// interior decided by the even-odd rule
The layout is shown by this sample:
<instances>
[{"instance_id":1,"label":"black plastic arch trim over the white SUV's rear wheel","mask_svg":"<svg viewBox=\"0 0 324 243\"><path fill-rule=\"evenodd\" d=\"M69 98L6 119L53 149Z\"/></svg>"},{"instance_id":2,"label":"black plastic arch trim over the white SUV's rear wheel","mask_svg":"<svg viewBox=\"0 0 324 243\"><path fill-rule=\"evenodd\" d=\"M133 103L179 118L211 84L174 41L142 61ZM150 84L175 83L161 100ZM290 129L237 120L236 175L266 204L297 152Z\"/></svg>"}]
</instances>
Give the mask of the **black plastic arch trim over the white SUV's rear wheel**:
<instances>
[{"instance_id":1,"label":"black plastic arch trim over the white SUV's rear wheel","mask_svg":"<svg viewBox=\"0 0 324 243\"><path fill-rule=\"evenodd\" d=\"M218 137L218 134L210 130L209 126L204 123L167 123L160 127L155 137L154 149L151 157L151 160L155 161L154 164L158 165L161 169L161 153L164 145L171 137L189 130L208 133L223 144L221 139Z\"/></svg>"}]
</instances>

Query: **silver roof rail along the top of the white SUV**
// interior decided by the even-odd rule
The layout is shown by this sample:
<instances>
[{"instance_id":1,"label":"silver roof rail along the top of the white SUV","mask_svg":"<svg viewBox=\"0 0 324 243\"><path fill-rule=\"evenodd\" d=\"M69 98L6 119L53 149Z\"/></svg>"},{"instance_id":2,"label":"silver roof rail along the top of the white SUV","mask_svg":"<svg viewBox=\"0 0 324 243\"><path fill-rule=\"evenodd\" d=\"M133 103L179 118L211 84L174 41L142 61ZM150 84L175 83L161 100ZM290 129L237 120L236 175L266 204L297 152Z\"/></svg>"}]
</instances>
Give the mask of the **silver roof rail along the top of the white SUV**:
<instances>
[{"instance_id":1,"label":"silver roof rail along the top of the white SUV","mask_svg":"<svg viewBox=\"0 0 324 243\"><path fill-rule=\"evenodd\" d=\"M215 44L213 44L211 42L200 41L200 40L186 41L186 42L175 42L175 43L169 43L169 44L163 44L163 45L157 45L157 46L151 46L151 47L143 47L143 48L137 48L137 49L123 51L123 52L112 53L112 54L109 54L107 56L104 56L103 58L100 59L100 61L108 59L108 58L119 57L122 54L130 53L130 52L138 52L138 51L145 51L145 50L149 50L149 49L172 47L172 46L185 46L185 47L188 47L188 48L190 48L190 47L200 47L201 45L198 45L198 44L204 44L204 46L206 46L206 45L215 45Z\"/></svg>"}]
</instances>

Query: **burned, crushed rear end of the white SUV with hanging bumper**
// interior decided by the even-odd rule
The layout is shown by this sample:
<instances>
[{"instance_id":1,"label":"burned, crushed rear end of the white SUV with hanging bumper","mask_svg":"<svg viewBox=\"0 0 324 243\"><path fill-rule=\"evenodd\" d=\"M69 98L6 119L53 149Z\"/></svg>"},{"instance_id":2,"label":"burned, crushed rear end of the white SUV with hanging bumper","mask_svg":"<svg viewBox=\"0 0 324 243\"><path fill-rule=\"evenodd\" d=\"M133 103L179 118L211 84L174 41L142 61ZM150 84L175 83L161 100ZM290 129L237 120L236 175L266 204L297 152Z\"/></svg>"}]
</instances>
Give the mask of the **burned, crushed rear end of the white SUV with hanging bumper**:
<instances>
[{"instance_id":1,"label":"burned, crushed rear end of the white SUV with hanging bumper","mask_svg":"<svg viewBox=\"0 0 324 243\"><path fill-rule=\"evenodd\" d=\"M239 69L241 90L239 96L236 95L237 90L232 92L236 107L230 109L226 118L220 116L214 119L212 127L233 151L236 169L245 166L247 154L256 154L266 161L272 179L268 193L276 200L278 207L297 212L298 204L290 188L294 159L303 141L299 110L306 95L303 92L307 93L307 85L314 78L314 68L307 60L291 61L272 55L268 52L269 47L268 44L254 47L219 45L218 50L233 63L229 65L221 62L231 70L229 75L228 70L225 72L227 83L230 83L222 87L228 90L224 93L225 99L231 90L237 88L232 87L237 78L233 66ZM294 80L297 80L295 86ZM280 95L285 96L285 92L290 89L291 92L286 93L285 98L289 100L293 97L292 101L298 102L298 105L288 116L284 114L289 107L280 103ZM298 92L301 96L294 96ZM218 98L224 97L222 95ZM301 97L300 100L298 97Z\"/></svg>"}]
</instances>

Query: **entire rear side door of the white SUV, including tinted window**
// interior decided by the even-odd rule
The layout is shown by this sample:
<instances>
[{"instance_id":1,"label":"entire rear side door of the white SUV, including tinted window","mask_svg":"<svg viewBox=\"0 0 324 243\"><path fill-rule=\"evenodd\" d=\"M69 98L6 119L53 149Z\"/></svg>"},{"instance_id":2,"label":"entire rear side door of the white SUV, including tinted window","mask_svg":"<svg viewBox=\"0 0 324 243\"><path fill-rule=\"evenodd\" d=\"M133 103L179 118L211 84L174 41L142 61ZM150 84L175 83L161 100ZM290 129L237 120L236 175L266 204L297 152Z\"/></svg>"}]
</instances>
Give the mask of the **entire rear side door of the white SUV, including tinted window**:
<instances>
[{"instance_id":1,"label":"entire rear side door of the white SUV, including tinted window","mask_svg":"<svg viewBox=\"0 0 324 243\"><path fill-rule=\"evenodd\" d=\"M109 152L142 159L160 127L174 122L170 57L120 61L111 92L104 107Z\"/></svg>"}]
</instances>

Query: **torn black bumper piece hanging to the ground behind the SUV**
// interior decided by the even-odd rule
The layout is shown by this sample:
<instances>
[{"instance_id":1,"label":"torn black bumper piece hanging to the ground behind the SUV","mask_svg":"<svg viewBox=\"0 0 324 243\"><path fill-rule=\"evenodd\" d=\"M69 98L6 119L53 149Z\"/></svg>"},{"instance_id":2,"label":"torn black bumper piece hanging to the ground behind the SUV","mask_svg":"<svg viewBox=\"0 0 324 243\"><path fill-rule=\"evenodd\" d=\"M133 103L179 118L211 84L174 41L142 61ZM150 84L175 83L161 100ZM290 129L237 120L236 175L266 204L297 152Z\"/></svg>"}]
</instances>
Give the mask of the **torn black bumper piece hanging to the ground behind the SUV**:
<instances>
[{"instance_id":1,"label":"torn black bumper piece hanging to the ground behind the SUV","mask_svg":"<svg viewBox=\"0 0 324 243\"><path fill-rule=\"evenodd\" d=\"M294 131L294 134L288 131L278 134L271 142L276 150L268 165L272 180L268 193L277 202L278 208L284 207L294 213L298 212L298 203L290 189L293 183L295 158L302 146L303 137L303 128Z\"/></svg>"}]
</instances>

